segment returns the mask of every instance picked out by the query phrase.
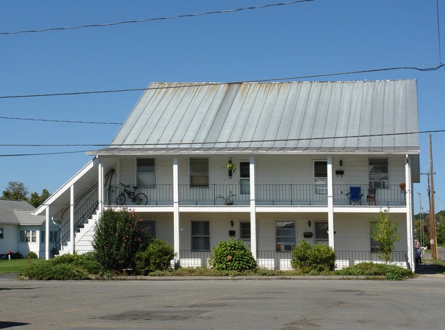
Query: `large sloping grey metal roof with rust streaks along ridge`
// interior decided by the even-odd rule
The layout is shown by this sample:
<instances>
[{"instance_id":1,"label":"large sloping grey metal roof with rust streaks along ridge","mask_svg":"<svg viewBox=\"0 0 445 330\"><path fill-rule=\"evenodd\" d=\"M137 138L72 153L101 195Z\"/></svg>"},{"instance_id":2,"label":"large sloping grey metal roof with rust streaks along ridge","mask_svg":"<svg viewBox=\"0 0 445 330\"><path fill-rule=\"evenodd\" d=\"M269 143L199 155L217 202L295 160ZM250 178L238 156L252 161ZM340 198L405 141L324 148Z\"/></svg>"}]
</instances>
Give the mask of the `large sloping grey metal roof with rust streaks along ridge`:
<instances>
[{"instance_id":1,"label":"large sloping grey metal roof with rust streaks along ridge","mask_svg":"<svg viewBox=\"0 0 445 330\"><path fill-rule=\"evenodd\" d=\"M420 153L415 79L152 83L90 155Z\"/></svg>"}]
</instances>

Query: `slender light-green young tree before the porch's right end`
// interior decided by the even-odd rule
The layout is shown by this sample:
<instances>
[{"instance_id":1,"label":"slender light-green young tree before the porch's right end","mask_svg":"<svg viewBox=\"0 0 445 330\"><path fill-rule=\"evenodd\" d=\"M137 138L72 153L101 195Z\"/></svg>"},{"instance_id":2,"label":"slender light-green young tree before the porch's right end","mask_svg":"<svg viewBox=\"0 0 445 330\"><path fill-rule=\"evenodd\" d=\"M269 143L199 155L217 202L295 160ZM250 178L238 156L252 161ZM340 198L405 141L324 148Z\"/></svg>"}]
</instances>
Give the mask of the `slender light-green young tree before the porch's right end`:
<instances>
[{"instance_id":1,"label":"slender light-green young tree before the porch's right end","mask_svg":"<svg viewBox=\"0 0 445 330\"><path fill-rule=\"evenodd\" d=\"M402 234L398 232L398 224L391 222L390 212L380 210L377 223L370 223L370 237L379 243L379 257L388 264L391 260L392 251L402 238Z\"/></svg>"}]
</instances>

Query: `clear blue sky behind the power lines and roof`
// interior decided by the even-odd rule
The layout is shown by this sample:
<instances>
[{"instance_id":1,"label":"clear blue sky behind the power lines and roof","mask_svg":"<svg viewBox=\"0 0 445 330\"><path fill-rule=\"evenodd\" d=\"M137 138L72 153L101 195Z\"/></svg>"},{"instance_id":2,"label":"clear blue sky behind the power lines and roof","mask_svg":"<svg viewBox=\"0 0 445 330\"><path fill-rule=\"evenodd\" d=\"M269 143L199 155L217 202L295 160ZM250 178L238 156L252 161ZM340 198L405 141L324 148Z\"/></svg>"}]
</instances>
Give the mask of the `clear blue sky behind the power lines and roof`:
<instances>
[{"instance_id":1,"label":"clear blue sky behind the power lines and roof","mask_svg":"<svg viewBox=\"0 0 445 330\"><path fill-rule=\"evenodd\" d=\"M250 81L378 68L438 66L445 58L445 3L435 0L314 0L226 14L40 33L73 27L246 8L279 1L22 1L0 10L0 96L144 88L152 81ZM441 51L441 52L440 52ZM442 55L441 55L442 53ZM445 129L445 68L379 71L310 80L418 79L419 130ZM309 79L291 79L295 81ZM1 98L0 116L122 123L142 91ZM0 189L21 181L55 192L118 125L0 118ZM429 134L420 167L429 171ZM445 134L433 134L435 210L445 210ZM58 153L59 155L17 154ZM17 155L8 156L5 155ZM427 176L415 185L427 212ZM419 195L414 196L416 213Z\"/></svg>"}]
</instances>

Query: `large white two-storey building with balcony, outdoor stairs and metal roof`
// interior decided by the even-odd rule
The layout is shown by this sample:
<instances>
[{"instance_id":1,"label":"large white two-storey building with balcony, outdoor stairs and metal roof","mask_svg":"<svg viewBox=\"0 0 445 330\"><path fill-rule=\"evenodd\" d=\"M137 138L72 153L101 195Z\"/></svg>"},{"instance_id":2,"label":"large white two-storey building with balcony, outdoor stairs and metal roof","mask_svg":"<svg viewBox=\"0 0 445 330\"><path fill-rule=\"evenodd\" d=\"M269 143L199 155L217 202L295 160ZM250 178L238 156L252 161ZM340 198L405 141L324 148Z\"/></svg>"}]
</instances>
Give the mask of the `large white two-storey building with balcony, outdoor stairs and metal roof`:
<instances>
[{"instance_id":1,"label":"large white two-storey building with balcony, outdoor stairs and metal roof","mask_svg":"<svg viewBox=\"0 0 445 330\"><path fill-rule=\"evenodd\" d=\"M61 253L90 251L101 211L124 206L181 266L206 266L237 238L260 266L285 269L303 239L332 246L338 268L379 262L369 222L382 210L403 234L393 261L414 269L417 131L414 79L153 83L35 214L60 223ZM146 197L118 197L121 183Z\"/></svg>"}]
</instances>

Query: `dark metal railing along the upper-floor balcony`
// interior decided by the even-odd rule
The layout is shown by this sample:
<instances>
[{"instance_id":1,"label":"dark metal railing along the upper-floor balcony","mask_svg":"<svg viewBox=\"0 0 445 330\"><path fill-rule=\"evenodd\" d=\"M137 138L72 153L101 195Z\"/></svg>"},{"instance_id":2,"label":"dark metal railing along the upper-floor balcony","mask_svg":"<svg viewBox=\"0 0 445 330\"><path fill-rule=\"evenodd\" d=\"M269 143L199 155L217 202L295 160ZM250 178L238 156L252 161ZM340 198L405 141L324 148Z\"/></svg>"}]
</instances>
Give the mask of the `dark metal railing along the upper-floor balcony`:
<instances>
[{"instance_id":1,"label":"dark metal railing along the upper-floor balcony","mask_svg":"<svg viewBox=\"0 0 445 330\"><path fill-rule=\"evenodd\" d=\"M361 188L361 200L358 205L374 205L367 203L368 185L340 184L333 185L333 204L350 205L348 192L350 187ZM240 184L210 184L205 187L179 185L179 205L249 205L251 194L249 186ZM105 204L116 205L118 195L123 192L122 186L107 186ZM138 187L136 193L147 195L147 205L173 205L173 185L157 184L155 186ZM257 184L255 186L255 203L257 205L327 205L327 189L314 184ZM125 205L135 205L127 199ZM375 205L403 206L406 205L405 191L398 185L389 185L376 190Z\"/></svg>"}]
</instances>

